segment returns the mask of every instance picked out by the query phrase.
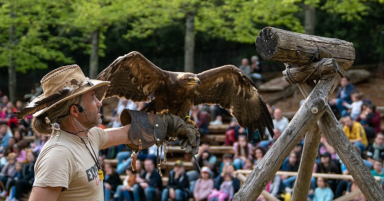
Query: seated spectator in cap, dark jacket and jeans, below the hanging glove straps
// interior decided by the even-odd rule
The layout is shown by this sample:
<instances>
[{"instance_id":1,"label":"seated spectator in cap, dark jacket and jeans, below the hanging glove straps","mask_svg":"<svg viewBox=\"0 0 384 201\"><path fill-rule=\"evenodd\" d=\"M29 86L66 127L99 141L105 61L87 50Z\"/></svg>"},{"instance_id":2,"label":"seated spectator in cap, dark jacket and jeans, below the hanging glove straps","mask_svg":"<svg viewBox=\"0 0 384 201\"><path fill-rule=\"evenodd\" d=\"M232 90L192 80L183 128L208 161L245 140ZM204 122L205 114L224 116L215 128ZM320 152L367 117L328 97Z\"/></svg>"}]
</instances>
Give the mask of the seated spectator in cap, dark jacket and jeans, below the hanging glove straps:
<instances>
[{"instance_id":1,"label":"seated spectator in cap, dark jacket and jeans, below the hanging glove straps","mask_svg":"<svg viewBox=\"0 0 384 201\"><path fill-rule=\"evenodd\" d=\"M177 160L173 170L169 172L168 184L161 194L161 201L168 201L168 198L176 201L183 201L187 200L188 195L188 175L186 175L182 161Z\"/></svg>"}]
</instances>

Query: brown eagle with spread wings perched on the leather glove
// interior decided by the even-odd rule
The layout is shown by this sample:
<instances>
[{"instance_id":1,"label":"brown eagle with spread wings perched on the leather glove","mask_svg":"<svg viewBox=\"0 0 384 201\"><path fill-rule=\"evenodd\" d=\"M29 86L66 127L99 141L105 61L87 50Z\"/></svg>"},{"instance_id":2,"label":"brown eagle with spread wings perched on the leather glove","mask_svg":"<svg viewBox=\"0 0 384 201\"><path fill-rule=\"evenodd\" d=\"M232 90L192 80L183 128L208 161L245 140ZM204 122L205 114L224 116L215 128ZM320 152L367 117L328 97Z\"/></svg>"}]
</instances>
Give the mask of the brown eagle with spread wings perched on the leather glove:
<instances>
[{"instance_id":1,"label":"brown eagle with spread wings perched on the leather glove","mask_svg":"<svg viewBox=\"0 0 384 201\"><path fill-rule=\"evenodd\" d=\"M219 104L231 111L241 127L248 128L248 142L256 129L261 138L265 127L273 136L271 116L255 84L233 65L199 74L171 72L155 66L139 52L130 52L117 58L96 79L111 82L101 101L118 96L133 102L149 102L153 95L151 103L143 109L145 112L167 109L182 119L193 106Z\"/></svg>"}]
</instances>

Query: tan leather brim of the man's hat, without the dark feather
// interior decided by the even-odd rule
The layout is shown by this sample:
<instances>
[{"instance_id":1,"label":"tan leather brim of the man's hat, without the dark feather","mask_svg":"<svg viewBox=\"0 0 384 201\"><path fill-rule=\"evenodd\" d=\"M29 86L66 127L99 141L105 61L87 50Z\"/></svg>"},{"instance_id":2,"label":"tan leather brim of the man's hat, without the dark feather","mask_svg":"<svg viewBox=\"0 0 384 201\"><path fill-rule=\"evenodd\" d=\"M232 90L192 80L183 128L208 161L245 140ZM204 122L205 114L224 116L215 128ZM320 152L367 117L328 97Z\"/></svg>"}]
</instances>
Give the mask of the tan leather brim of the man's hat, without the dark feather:
<instances>
[{"instance_id":1,"label":"tan leather brim of the man's hat, without the dark feather","mask_svg":"<svg viewBox=\"0 0 384 201\"><path fill-rule=\"evenodd\" d=\"M63 103L66 100L71 99L71 98L73 98L73 97L75 97L77 95L81 95L81 94L86 93L86 92L88 92L90 90L93 90L95 88L99 88L99 87L102 87L102 86L107 86L107 87L104 87L103 89L101 89L101 90L104 90L103 93L99 93L99 94L103 94L103 96L104 96L104 93L107 91L107 89L109 87L109 84L111 83L110 81L101 81L101 80L97 80L97 79L89 79L89 81L93 84L92 86L90 86L90 87L89 86L88 87L83 87L83 88L80 88L80 89L76 90L73 94L71 94L69 96L66 96L63 99L60 99L58 102L52 104L51 106L37 111L36 113L33 114L33 117L39 117L40 115L42 115L43 113L47 112L48 110L56 107L58 104ZM44 96L44 94L39 95L35 99L33 99L33 101L31 103L34 103L34 102L36 103L36 102L38 102L38 101L40 101L40 100L42 100L44 98L46 98ZM97 97L97 98L101 99L102 97Z\"/></svg>"}]
</instances>

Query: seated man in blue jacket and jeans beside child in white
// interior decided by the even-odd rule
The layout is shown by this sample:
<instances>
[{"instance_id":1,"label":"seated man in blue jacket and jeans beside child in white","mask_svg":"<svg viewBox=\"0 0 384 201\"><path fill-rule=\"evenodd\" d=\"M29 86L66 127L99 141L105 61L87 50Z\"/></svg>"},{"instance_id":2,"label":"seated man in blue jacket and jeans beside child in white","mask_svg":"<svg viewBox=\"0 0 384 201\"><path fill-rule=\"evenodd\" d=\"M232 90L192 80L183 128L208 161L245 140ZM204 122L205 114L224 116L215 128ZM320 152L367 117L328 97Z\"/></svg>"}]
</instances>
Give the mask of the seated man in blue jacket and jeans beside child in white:
<instances>
[{"instance_id":1,"label":"seated man in blue jacket and jeans beside child in white","mask_svg":"<svg viewBox=\"0 0 384 201\"><path fill-rule=\"evenodd\" d=\"M329 101L329 105L331 106L332 110L336 109L341 115L341 113L346 110L343 106L343 103L352 103L351 92L355 89L355 86L349 82L348 77L341 78L340 85L341 86L337 90L336 98L332 98Z\"/></svg>"}]
</instances>

